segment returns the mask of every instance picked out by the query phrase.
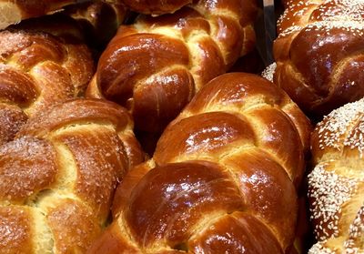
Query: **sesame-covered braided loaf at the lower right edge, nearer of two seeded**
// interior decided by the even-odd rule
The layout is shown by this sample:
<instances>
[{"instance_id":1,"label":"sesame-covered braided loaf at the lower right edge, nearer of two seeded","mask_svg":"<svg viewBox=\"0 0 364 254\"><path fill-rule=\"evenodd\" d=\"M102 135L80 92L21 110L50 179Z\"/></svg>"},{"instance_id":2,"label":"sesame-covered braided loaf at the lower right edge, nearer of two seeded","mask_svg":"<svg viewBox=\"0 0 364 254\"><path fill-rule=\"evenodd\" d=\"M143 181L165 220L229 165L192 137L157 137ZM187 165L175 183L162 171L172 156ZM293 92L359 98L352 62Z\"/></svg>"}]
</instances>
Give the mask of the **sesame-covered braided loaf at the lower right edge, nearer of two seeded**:
<instances>
[{"instance_id":1,"label":"sesame-covered braided loaf at the lower right edge, nearer of two seeded","mask_svg":"<svg viewBox=\"0 0 364 254\"><path fill-rule=\"evenodd\" d=\"M308 197L319 242L309 253L364 253L364 98L332 111L311 143Z\"/></svg>"}]
</instances>

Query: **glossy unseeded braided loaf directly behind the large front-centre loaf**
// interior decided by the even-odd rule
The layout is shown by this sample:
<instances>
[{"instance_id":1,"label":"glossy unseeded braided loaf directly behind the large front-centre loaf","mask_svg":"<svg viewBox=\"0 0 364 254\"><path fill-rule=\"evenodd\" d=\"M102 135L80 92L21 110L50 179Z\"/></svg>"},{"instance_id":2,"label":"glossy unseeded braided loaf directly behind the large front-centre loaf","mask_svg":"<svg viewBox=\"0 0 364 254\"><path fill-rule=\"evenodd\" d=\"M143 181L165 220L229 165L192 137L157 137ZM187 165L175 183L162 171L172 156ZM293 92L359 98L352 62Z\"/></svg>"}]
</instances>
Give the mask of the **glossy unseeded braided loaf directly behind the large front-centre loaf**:
<instances>
[{"instance_id":1,"label":"glossy unseeded braided loaf directly behind the large front-centre loaf","mask_svg":"<svg viewBox=\"0 0 364 254\"><path fill-rule=\"evenodd\" d=\"M126 106L139 130L161 131L195 91L252 48L255 11L255 0L200 0L121 26L87 96Z\"/></svg>"}]
</instances>

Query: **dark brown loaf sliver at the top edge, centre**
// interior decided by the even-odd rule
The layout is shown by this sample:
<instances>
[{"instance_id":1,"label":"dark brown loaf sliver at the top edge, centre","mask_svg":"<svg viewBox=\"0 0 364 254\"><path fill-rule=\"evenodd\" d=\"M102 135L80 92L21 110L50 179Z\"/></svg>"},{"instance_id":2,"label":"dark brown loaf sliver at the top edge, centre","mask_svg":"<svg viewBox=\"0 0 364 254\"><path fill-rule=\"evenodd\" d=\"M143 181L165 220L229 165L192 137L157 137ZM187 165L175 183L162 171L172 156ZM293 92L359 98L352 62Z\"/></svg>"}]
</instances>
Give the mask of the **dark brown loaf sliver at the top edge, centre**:
<instances>
[{"instance_id":1,"label":"dark brown loaf sliver at the top edge, centre","mask_svg":"<svg viewBox=\"0 0 364 254\"><path fill-rule=\"evenodd\" d=\"M163 15L174 13L192 0L121 0L129 9L146 15Z\"/></svg>"}]
</instances>

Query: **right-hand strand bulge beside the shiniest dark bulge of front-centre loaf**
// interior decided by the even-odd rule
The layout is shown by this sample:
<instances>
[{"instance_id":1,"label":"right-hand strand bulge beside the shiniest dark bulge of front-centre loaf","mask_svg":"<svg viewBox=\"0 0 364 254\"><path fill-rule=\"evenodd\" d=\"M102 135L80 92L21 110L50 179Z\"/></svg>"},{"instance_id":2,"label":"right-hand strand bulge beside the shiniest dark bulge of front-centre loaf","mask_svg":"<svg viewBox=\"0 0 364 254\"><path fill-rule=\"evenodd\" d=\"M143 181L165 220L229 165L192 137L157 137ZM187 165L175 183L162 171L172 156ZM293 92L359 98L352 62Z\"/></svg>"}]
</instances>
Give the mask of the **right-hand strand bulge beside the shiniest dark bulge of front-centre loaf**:
<instances>
[{"instance_id":1,"label":"right-hand strand bulge beside the shiniest dark bulge of front-centre loaf","mask_svg":"<svg viewBox=\"0 0 364 254\"><path fill-rule=\"evenodd\" d=\"M274 232L275 239L287 246L291 236L282 229L290 231L295 227L297 210L290 206L296 204L297 199L296 195L292 195L295 189L284 168L268 154L262 154L260 149L244 152L226 161L227 168L231 168L239 179L238 188L249 212L265 221Z\"/></svg>"}]
</instances>

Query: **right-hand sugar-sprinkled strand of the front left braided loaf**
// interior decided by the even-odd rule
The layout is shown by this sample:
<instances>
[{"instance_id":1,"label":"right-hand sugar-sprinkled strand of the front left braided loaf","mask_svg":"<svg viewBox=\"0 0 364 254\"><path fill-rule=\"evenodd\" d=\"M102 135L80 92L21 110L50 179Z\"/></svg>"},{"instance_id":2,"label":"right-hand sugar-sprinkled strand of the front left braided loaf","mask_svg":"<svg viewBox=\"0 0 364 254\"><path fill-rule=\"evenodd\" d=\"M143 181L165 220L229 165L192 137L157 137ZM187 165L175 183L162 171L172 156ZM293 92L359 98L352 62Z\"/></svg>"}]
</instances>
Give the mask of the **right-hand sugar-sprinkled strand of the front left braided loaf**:
<instances>
[{"instance_id":1,"label":"right-hand sugar-sprinkled strand of the front left braided loaf","mask_svg":"<svg viewBox=\"0 0 364 254\"><path fill-rule=\"evenodd\" d=\"M65 144L74 155L76 195L94 208L94 214L106 218L116 181L126 174L128 157L115 130L98 129L102 133L97 137L93 135L95 129L90 128L64 132L55 141ZM114 168L118 168L117 174Z\"/></svg>"}]
</instances>

